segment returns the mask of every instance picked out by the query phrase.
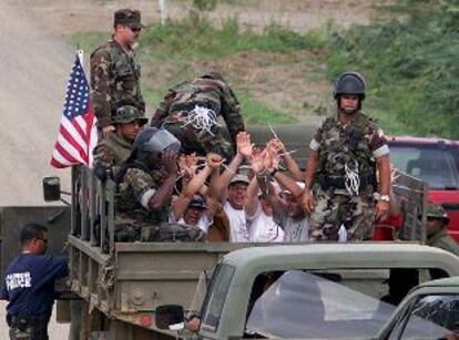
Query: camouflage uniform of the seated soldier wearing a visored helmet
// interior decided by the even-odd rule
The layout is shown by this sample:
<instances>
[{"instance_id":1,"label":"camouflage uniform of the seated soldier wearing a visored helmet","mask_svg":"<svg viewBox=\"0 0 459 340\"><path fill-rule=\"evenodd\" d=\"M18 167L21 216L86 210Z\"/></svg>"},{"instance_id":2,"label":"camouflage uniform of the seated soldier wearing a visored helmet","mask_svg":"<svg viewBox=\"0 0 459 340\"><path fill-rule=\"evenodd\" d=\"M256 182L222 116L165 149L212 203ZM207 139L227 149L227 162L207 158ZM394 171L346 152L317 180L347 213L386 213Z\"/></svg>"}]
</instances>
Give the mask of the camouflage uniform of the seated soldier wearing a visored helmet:
<instances>
[{"instance_id":1,"label":"camouflage uniform of the seated soldier wearing a visored helmet","mask_svg":"<svg viewBox=\"0 0 459 340\"><path fill-rule=\"evenodd\" d=\"M170 203L150 210L150 198L167 177L164 168L150 169L143 162L133 161L123 171L115 209L118 241L204 241L205 234L197 227L167 223Z\"/></svg>"}]
</instances>

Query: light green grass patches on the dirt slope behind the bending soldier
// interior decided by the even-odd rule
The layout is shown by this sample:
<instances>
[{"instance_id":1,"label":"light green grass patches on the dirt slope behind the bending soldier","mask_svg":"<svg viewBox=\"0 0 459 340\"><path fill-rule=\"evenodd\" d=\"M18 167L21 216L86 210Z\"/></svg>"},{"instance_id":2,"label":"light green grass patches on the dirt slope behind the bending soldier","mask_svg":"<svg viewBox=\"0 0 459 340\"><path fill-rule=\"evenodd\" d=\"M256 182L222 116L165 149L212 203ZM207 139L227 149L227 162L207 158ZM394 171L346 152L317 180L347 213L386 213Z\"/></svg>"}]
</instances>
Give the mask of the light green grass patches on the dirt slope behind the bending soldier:
<instances>
[{"instance_id":1,"label":"light green grass patches on the dirt slope behind the bending soldier","mask_svg":"<svg viewBox=\"0 0 459 340\"><path fill-rule=\"evenodd\" d=\"M106 33L79 33L71 38L78 49L93 51L104 40ZM306 35L271 24L262 33L242 31L236 19L227 20L215 28L206 19L190 16L182 21L169 21L165 25L153 24L141 35L139 58L144 69L162 64L172 66L180 73L167 79L159 79L154 89L143 85L145 102L156 107L166 90L191 76L186 65L196 61L216 60L245 51L268 53L292 53L305 49L316 49L324 43L323 35L310 32ZM145 73L143 74L145 76ZM151 75L154 79L154 74ZM253 99L247 91L237 91L247 124L295 123L296 119L285 112L269 107Z\"/></svg>"}]
</instances>

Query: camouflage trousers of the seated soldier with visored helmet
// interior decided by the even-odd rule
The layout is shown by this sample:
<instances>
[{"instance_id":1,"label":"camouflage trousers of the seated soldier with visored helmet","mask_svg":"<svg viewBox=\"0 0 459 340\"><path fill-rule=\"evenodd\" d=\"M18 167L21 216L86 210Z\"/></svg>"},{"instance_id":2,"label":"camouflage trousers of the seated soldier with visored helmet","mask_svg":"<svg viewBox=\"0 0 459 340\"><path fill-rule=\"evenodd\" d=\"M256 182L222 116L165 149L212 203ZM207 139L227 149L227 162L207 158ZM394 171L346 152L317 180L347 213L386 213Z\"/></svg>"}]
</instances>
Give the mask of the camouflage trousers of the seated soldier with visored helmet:
<instances>
[{"instance_id":1,"label":"camouflage trousers of the seated soldier with visored helmet","mask_svg":"<svg viewBox=\"0 0 459 340\"><path fill-rule=\"evenodd\" d=\"M115 241L143 243L200 243L205 240L205 233L197 227L162 223L159 225L116 224Z\"/></svg>"}]
</instances>

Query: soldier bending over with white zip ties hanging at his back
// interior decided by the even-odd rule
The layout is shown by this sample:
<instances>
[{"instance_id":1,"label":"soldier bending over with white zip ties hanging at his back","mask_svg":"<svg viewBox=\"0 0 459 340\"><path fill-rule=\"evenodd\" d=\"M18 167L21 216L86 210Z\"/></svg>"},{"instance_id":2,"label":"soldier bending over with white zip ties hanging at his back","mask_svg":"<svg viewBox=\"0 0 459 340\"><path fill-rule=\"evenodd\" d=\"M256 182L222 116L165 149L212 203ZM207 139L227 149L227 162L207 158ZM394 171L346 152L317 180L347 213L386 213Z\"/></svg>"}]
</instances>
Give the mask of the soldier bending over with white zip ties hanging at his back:
<instances>
[{"instance_id":1,"label":"soldier bending over with white zip ties hanging at his back","mask_svg":"<svg viewBox=\"0 0 459 340\"><path fill-rule=\"evenodd\" d=\"M223 117L231 143L217 123ZM205 156L217 153L228 162L236 135L245 131L239 102L222 74L210 72L171 89L152 117L152 126L164 127L182 142L182 152Z\"/></svg>"}]
</instances>

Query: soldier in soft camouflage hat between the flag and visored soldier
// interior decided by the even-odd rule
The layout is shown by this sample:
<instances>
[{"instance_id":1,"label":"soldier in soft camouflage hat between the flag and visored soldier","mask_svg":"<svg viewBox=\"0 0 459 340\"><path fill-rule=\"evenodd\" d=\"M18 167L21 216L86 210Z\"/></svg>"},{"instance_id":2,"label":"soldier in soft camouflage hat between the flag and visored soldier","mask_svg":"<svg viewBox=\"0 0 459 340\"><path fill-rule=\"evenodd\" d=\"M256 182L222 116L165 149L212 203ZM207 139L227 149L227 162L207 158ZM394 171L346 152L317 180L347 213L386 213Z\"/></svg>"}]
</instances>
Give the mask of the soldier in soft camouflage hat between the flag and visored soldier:
<instances>
[{"instance_id":1,"label":"soldier in soft camouflage hat between the flag and visored soldier","mask_svg":"<svg viewBox=\"0 0 459 340\"><path fill-rule=\"evenodd\" d=\"M145 114L134 106L123 105L116 110L112 120L115 131L94 148L94 173L100 179L106 179L108 173L116 173L129 158L132 144L147 121Z\"/></svg>"}]
</instances>

